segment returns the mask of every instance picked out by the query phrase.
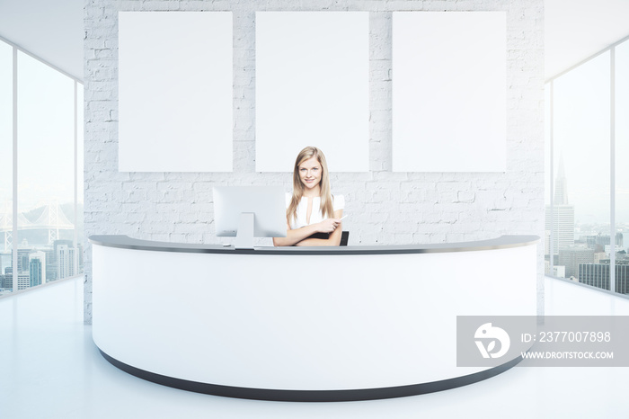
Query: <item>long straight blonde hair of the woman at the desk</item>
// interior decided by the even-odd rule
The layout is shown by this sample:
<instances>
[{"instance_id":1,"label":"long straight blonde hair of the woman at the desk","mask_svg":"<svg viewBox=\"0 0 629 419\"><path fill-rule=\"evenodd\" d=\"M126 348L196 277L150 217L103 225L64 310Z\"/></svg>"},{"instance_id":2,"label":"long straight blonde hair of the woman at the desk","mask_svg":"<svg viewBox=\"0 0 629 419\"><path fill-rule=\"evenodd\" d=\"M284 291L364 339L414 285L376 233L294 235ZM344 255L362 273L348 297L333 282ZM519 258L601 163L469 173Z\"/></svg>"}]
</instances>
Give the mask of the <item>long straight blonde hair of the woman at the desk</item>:
<instances>
[{"instance_id":1,"label":"long straight blonde hair of the woman at the desk","mask_svg":"<svg viewBox=\"0 0 629 419\"><path fill-rule=\"evenodd\" d=\"M293 197L290 200L290 205L286 210L286 218L288 224L290 219L297 219L297 206L301 202L301 198L304 196L304 183L301 183L299 178L299 165L306 160L316 157L317 161L321 165L321 182L319 188L321 192L321 214L323 218L330 218L334 214L334 207L332 205L332 192L330 191L330 176L328 175L328 164L325 162L325 156L323 151L317 147L306 147L299 152L297 159L295 159L295 167L293 168Z\"/></svg>"}]
</instances>

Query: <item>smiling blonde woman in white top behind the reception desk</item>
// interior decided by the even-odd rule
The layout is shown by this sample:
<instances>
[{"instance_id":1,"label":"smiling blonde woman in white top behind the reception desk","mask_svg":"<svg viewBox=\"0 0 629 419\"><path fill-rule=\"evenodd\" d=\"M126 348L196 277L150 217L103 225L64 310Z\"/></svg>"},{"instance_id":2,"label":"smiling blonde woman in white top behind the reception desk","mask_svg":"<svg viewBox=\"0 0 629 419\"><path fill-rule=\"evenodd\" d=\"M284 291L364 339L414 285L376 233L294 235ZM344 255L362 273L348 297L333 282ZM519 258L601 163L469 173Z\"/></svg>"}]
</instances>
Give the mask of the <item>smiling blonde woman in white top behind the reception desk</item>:
<instances>
[{"instance_id":1,"label":"smiling blonde woman in white top behind the reception desk","mask_svg":"<svg viewBox=\"0 0 629 419\"><path fill-rule=\"evenodd\" d=\"M293 170L293 193L287 194L287 236L273 238L273 245L339 245L345 200L332 196L328 165L323 152L306 147ZM313 237L323 233L327 238Z\"/></svg>"}]
</instances>

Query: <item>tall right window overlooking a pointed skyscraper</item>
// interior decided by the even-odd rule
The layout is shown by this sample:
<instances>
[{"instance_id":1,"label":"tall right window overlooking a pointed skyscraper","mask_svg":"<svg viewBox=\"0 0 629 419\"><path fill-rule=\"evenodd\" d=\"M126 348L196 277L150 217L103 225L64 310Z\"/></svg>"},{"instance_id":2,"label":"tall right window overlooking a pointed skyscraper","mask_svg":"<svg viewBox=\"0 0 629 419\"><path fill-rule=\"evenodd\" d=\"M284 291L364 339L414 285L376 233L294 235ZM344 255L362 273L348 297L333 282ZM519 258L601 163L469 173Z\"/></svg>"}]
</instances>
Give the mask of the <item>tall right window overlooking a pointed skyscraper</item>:
<instances>
[{"instance_id":1,"label":"tall right window overlooking a pointed skyscraper","mask_svg":"<svg viewBox=\"0 0 629 419\"><path fill-rule=\"evenodd\" d=\"M629 41L553 77L546 100L546 274L628 294Z\"/></svg>"}]
</instances>

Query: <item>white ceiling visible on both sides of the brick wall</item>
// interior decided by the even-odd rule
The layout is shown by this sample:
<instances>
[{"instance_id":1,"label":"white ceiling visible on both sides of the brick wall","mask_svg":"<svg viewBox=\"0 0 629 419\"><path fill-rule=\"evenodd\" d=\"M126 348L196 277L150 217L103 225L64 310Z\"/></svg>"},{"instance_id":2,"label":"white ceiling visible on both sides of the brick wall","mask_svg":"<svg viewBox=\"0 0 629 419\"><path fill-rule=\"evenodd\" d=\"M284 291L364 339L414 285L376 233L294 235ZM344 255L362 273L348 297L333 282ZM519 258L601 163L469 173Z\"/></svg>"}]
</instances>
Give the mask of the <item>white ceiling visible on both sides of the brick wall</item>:
<instances>
[{"instance_id":1,"label":"white ceiling visible on both sides of the brick wall","mask_svg":"<svg viewBox=\"0 0 629 419\"><path fill-rule=\"evenodd\" d=\"M84 0L0 0L0 36L83 79L83 8ZM545 0L545 78L627 36L629 0Z\"/></svg>"}]
</instances>

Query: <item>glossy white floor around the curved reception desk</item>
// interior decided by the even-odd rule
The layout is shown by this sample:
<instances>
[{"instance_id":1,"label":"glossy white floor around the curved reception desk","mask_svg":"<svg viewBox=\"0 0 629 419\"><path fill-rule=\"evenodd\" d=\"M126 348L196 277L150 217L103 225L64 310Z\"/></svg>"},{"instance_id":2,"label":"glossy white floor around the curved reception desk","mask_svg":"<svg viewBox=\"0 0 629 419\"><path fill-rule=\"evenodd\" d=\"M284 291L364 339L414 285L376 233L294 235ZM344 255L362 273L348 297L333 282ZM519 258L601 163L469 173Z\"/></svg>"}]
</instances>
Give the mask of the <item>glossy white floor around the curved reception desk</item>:
<instances>
[{"instance_id":1,"label":"glossy white floor around the curved reception desk","mask_svg":"<svg viewBox=\"0 0 629 419\"><path fill-rule=\"evenodd\" d=\"M545 287L547 314L629 315L629 299L557 280ZM516 367L464 388L369 402L189 393L111 366L94 346L82 309L81 279L0 299L0 418L629 417L629 368Z\"/></svg>"}]
</instances>

